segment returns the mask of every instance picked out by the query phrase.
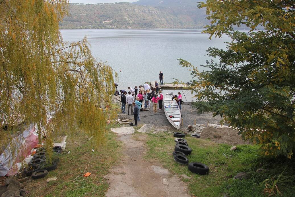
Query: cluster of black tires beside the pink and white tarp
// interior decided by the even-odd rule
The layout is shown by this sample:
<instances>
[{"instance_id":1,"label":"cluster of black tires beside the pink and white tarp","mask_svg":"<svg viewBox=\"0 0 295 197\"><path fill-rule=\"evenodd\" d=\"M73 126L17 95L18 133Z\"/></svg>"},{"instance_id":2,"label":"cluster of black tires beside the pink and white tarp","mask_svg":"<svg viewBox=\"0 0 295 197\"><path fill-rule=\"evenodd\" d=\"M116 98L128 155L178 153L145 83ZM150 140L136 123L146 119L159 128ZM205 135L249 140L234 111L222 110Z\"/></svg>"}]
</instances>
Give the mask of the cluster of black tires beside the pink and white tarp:
<instances>
[{"instance_id":1,"label":"cluster of black tires beside the pink and white tarp","mask_svg":"<svg viewBox=\"0 0 295 197\"><path fill-rule=\"evenodd\" d=\"M61 153L61 146L54 146L53 152L55 154ZM24 175L32 176L33 179L39 179L45 177L49 171L55 170L59 159L54 159L50 165L46 162L45 148L41 147L36 150L36 154L28 163L28 167L24 169Z\"/></svg>"}]
</instances>

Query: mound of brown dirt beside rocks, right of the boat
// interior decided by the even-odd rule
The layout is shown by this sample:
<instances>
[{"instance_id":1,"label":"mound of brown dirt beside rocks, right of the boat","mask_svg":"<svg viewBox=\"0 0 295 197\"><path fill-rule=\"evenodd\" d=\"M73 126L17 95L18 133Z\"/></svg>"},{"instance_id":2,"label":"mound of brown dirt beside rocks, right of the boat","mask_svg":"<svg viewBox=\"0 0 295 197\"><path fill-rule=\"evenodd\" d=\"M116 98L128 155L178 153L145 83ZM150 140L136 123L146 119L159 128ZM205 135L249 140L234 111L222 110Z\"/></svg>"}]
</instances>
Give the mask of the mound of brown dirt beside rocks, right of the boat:
<instances>
[{"instance_id":1,"label":"mound of brown dirt beside rocks, right of the boat","mask_svg":"<svg viewBox=\"0 0 295 197\"><path fill-rule=\"evenodd\" d=\"M249 141L243 141L237 131L231 128L213 128L205 127L202 130L201 138L210 139L217 143L225 143L230 145L250 144Z\"/></svg>"}]
</instances>

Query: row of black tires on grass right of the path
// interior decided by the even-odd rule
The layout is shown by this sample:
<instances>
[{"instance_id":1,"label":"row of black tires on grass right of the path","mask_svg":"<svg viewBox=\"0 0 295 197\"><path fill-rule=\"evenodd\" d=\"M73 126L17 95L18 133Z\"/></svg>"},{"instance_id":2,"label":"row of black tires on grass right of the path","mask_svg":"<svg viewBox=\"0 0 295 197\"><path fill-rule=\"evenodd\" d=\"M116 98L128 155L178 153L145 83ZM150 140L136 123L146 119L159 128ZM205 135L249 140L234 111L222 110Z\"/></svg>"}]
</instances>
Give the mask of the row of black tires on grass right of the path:
<instances>
[{"instance_id":1,"label":"row of black tires on grass right of the path","mask_svg":"<svg viewBox=\"0 0 295 197\"><path fill-rule=\"evenodd\" d=\"M176 142L176 145L172 153L174 161L181 165L188 165L189 170L196 174L208 174L209 167L207 165L198 162L189 163L187 155L191 154L191 148L189 147L187 141L183 139L185 137L185 134L181 132L174 132L173 136L177 137L174 140Z\"/></svg>"}]
</instances>

